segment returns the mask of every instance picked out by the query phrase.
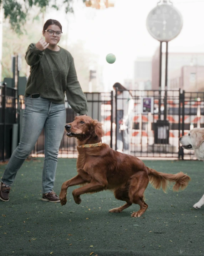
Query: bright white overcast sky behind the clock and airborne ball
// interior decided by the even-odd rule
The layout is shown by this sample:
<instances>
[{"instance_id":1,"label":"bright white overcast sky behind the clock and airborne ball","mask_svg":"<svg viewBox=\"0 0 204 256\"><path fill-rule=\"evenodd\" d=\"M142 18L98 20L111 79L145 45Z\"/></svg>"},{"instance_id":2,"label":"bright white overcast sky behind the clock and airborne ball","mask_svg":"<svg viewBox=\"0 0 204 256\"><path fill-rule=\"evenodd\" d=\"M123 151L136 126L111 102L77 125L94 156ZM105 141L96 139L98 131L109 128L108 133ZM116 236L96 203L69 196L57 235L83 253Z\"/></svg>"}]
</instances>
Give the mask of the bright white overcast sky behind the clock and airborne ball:
<instances>
[{"instance_id":1,"label":"bright white overcast sky behind the clock and airborne ball","mask_svg":"<svg viewBox=\"0 0 204 256\"><path fill-rule=\"evenodd\" d=\"M146 29L148 13L159 0L116 0L114 8L87 8L82 0L74 0L75 14L68 18L61 11L49 11L45 19L57 19L67 31L68 41L83 40L85 47L100 55L104 66L104 82L123 83L133 78L137 57L152 57L159 42ZM183 16L183 29L169 42L169 52L204 52L204 0L173 0ZM165 47L165 45L164 45ZM114 64L106 63L106 54L116 55Z\"/></svg>"}]
</instances>

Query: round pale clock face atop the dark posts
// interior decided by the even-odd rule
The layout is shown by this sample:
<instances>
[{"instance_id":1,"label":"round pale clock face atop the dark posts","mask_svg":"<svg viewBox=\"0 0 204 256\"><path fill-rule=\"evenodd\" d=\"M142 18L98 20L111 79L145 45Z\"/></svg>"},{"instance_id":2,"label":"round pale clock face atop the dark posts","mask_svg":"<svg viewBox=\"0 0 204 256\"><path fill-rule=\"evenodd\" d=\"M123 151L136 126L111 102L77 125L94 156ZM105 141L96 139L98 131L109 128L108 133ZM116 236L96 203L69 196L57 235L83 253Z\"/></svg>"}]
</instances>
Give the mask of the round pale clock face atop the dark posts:
<instances>
[{"instance_id":1,"label":"round pale clock face atop the dark posts","mask_svg":"<svg viewBox=\"0 0 204 256\"><path fill-rule=\"evenodd\" d=\"M153 38L160 42L168 42L180 33L183 20L172 5L157 5L147 16L147 30Z\"/></svg>"}]
</instances>

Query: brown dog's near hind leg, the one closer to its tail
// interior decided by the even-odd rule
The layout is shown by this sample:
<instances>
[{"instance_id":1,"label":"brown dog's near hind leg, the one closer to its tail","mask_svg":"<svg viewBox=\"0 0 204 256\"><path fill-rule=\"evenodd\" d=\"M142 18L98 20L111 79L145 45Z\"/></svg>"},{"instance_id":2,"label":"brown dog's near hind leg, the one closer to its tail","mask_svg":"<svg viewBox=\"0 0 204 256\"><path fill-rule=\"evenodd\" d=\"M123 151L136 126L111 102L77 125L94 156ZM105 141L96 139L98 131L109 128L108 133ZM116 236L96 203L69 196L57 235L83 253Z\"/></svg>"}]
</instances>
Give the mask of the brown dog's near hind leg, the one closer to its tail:
<instances>
[{"instance_id":1,"label":"brown dog's near hind leg, the one closer to its tail","mask_svg":"<svg viewBox=\"0 0 204 256\"><path fill-rule=\"evenodd\" d=\"M134 174L130 179L129 199L132 203L139 204L140 209L133 212L131 217L140 217L146 210L148 205L144 202L143 194L149 183L148 175L144 172Z\"/></svg>"}]
</instances>

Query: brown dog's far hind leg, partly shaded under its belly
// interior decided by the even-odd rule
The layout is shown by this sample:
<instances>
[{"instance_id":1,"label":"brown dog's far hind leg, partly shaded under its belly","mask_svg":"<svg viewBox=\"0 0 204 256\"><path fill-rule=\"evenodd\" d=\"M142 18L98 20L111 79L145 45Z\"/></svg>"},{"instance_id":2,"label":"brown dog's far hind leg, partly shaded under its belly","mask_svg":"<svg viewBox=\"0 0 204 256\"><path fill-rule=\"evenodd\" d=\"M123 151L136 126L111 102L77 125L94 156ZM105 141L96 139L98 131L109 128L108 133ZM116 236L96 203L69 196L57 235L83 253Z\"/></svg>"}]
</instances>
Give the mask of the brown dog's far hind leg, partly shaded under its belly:
<instances>
[{"instance_id":1,"label":"brown dog's far hind leg, partly shaded under its belly","mask_svg":"<svg viewBox=\"0 0 204 256\"><path fill-rule=\"evenodd\" d=\"M109 212L122 212L124 209L132 205L131 201L129 200L128 192L129 192L128 188L124 188L124 189L118 188L114 191L115 198L121 201L125 201L126 204L118 208L113 208L109 210Z\"/></svg>"}]
</instances>

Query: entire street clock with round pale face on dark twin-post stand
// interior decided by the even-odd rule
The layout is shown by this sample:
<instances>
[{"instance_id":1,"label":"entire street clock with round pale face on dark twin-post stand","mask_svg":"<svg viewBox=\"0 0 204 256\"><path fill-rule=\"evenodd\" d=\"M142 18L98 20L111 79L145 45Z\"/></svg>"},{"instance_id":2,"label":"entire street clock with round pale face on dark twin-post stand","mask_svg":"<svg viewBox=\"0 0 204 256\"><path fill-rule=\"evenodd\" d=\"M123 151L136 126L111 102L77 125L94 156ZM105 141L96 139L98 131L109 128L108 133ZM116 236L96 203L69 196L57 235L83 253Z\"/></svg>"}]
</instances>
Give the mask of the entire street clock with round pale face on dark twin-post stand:
<instances>
[{"instance_id":1,"label":"entire street clock with round pale face on dark twin-post stand","mask_svg":"<svg viewBox=\"0 0 204 256\"><path fill-rule=\"evenodd\" d=\"M154 123L153 150L165 150L169 145L169 121L167 120L167 90L168 90L168 42L177 37L182 30L183 19L180 12L170 0L160 0L147 16L147 30L149 34L160 42L159 51L159 102L158 120ZM164 112L161 112L162 103L162 43L166 43L165 51L165 87L164 87ZM163 119L162 119L163 117ZM163 145L161 145L163 144ZM167 145L165 147L165 145ZM154 150L155 151L155 150Z\"/></svg>"}]
</instances>

